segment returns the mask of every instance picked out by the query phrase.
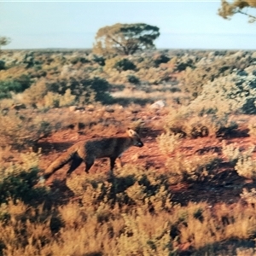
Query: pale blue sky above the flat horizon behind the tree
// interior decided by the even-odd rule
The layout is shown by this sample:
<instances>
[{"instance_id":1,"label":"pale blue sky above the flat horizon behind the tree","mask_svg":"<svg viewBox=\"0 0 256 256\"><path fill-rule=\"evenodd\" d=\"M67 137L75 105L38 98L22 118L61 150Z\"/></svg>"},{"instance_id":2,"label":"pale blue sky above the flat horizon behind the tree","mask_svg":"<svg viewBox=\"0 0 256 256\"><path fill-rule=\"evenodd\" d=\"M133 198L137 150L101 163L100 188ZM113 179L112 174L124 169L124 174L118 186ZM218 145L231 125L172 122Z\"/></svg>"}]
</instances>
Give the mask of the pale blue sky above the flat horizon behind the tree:
<instances>
[{"instance_id":1,"label":"pale blue sky above the flat horizon behind the tree","mask_svg":"<svg viewBox=\"0 0 256 256\"><path fill-rule=\"evenodd\" d=\"M256 49L256 23L245 15L224 20L216 1L4 1L3 49L91 48L98 29L143 22L160 28L158 49Z\"/></svg>"}]
</instances>

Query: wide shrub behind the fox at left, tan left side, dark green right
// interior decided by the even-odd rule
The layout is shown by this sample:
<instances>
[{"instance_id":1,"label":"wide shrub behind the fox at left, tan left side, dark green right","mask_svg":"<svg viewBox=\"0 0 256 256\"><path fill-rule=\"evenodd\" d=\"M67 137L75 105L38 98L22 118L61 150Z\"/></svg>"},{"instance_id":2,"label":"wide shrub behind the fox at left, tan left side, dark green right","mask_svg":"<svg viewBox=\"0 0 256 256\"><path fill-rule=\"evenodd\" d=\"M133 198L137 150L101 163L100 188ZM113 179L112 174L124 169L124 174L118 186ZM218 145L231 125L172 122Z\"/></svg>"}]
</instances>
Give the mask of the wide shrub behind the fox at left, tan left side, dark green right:
<instances>
[{"instance_id":1,"label":"wide shrub behind the fox at left, tan left side, dark green right","mask_svg":"<svg viewBox=\"0 0 256 256\"><path fill-rule=\"evenodd\" d=\"M36 84L24 92L23 102L34 107L63 107L73 104L92 102L108 103L110 84L107 80L93 79L60 79L47 81L39 79Z\"/></svg>"}]
</instances>

